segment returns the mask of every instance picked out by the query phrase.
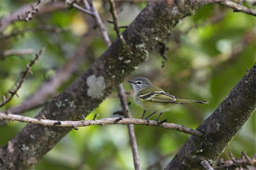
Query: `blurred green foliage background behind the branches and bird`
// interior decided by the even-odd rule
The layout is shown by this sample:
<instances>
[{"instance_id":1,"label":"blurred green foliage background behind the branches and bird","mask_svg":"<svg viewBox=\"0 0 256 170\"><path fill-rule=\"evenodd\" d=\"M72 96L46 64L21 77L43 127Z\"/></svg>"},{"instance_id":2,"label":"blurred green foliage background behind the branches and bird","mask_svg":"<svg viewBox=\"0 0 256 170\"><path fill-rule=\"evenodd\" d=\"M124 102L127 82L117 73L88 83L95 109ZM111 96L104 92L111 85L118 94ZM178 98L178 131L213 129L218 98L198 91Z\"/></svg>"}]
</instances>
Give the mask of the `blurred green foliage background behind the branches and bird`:
<instances>
[{"instance_id":1,"label":"blurred green foliage background behind the branches and bird","mask_svg":"<svg viewBox=\"0 0 256 170\"><path fill-rule=\"evenodd\" d=\"M12 11L33 1L0 1L0 17L10 15ZM55 1L54 3L57 3ZM120 25L129 25L147 6L147 1L117 1L116 8ZM254 8L250 1L245 6ZM116 38L108 1L95 1L109 37ZM44 108L53 96L68 87L77 76L106 50L95 21L89 15L61 6L58 10L37 15L29 22L17 21L8 25L0 35L0 94L8 96L8 90L15 87L20 72L26 68L30 59L35 57L42 46L47 45L44 54L33 66L33 75L29 75L19 90L19 98L0 111L12 110L31 98L45 84L55 80L58 73L66 71L64 80L51 89L47 96L40 96L41 104L34 109L17 113L29 117ZM255 8L254 8L255 9ZM133 101L133 90L127 80L145 76L162 89L176 97L210 101L210 104L184 104L175 106L163 113L162 119L195 129L223 101L228 92L246 74L255 63L255 17L244 13L234 13L218 4L202 6L195 15L186 17L175 27L166 41L165 60L156 49L147 61L138 66L123 83L132 117L141 118L143 110ZM10 50L31 50L28 54L6 55ZM63 73L63 74L64 74ZM49 91L51 91L49 90ZM39 97L39 98L40 98ZM122 110L116 91L86 119L119 117ZM115 114L114 114L115 113ZM148 115L149 113L147 113ZM155 119L154 115L151 119ZM256 152L255 114L250 117L243 129L222 153L224 160L230 160L228 153L239 157L244 150L250 157ZM2 122L3 123L3 122ZM6 143L26 124L7 122L0 126L0 145ZM135 125L138 150L142 169L163 169L179 151L188 134ZM80 127L79 131L70 131L35 169L134 169L129 135L125 125L104 125Z\"/></svg>"}]
</instances>

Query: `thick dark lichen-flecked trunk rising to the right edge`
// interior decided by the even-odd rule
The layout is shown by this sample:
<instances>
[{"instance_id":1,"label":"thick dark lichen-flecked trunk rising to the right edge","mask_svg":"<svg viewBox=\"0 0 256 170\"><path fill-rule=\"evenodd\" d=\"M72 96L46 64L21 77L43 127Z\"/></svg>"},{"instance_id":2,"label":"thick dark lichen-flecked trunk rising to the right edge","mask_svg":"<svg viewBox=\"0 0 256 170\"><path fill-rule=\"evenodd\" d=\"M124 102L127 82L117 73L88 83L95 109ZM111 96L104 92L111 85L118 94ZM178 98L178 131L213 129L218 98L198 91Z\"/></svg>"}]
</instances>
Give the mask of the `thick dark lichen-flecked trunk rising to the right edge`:
<instances>
[{"instance_id":1,"label":"thick dark lichen-flecked trunk rising to the right edge","mask_svg":"<svg viewBox=\"0 0 256 170\"><path fill-rule=\"evenodd\" d=\"M204 169L204 159L214 164L228 143L256 109L256 64L231 90L218 108L196 130L165 169Z\"/></svg>"}]
</instances>

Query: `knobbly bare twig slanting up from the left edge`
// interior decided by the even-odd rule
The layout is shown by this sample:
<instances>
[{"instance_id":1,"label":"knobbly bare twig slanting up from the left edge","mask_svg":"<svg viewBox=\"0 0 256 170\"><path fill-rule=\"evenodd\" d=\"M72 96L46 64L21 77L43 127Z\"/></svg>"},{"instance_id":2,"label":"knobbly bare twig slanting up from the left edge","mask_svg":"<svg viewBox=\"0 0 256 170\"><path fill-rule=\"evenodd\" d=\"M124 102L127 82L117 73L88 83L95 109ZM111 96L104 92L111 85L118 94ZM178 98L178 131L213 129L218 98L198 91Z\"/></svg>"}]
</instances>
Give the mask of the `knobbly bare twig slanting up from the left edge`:
<instances>
[{"instance_id":1,"label":"knobbly bare twig slanting up from the left edge","mask_svg":"<svg viewBox=\"0 0 256 170\"><path fill-rule=\"evenodd\" d=\"M6 100L4 100L2 103L0 103L0 108L2 106L4 106L4 104L11 101L13 96L16 95L17 97L19 97L17 94L17 91L20 89L22 83L25 81L26 76L28 76L29 73L33 74L33 72L31 71L31 67L35 64L35 62L39 58L39 56L42 55L44 50L45 50L45 46L40 50L40 52L38 54L36 54L35 59L30 61L30 63L27 65L26 69L24 71L22 71L22 77L21 77L19 83L17 83L17 85L13 91L10 91L10 90L8 91L11 95Z\"/></svg>"}]
</instances>

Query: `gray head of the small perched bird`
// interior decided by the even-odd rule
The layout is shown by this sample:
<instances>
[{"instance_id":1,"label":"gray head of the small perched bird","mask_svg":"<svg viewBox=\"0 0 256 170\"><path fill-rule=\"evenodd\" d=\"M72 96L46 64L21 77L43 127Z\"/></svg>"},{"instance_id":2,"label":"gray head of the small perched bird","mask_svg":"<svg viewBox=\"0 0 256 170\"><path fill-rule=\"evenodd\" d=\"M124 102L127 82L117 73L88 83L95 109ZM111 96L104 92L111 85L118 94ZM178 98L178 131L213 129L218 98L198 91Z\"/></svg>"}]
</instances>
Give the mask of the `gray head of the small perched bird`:
<instances>
[{"instance_id":1,"label":"gray head of the small perched bird","mask_svg":"<svg viewBox=\"0 0 256 170\"><path fill-rule=\"evenodd\" d=\"M153 86L153 84L145 77L137 77L134 80L129 80L129 83L132 84L134 94L140 92L147 87Z\"/></svg>"}]
</instances>

